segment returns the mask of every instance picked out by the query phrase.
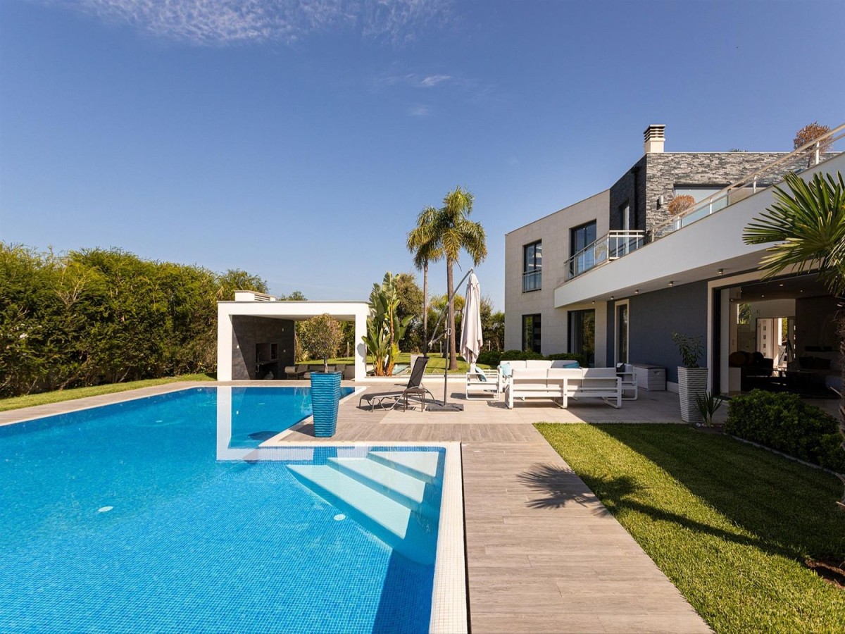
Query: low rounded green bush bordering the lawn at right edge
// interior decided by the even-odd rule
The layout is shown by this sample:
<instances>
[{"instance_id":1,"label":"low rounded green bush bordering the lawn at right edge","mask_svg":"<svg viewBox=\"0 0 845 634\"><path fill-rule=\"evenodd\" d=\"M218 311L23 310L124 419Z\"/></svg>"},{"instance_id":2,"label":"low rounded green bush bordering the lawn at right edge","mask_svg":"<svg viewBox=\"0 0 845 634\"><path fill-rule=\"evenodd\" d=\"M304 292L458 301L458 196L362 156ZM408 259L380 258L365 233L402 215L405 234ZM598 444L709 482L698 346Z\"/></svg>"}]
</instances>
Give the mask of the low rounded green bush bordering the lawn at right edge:
<instances>
[{"instance_id":1,"label":"low rounded green bush bordering the lawn at right edge","mask_svg":"<svg viewBox=\"0 0 845 634\"><path fill-rule=\"evenodd\" d=\"M845 472L837 421L797 394L752 391L728 404L728 434Z\"/></svg>"}]
</instances>

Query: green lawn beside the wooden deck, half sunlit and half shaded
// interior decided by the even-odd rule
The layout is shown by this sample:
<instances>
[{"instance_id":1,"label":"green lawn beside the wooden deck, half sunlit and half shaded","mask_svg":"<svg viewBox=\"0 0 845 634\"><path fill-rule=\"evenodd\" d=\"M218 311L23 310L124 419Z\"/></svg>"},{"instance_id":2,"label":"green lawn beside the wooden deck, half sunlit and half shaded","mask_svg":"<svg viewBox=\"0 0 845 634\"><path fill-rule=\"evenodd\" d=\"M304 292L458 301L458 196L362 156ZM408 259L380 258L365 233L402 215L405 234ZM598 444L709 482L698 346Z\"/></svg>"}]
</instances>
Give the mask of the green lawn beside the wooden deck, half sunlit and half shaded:
<instances>
[{"instance_id":1,"label":"green lawn beside the wooden deck, half sunlit and half shaded","mask_svg":"<svg viewBox=\"0 0 845 634\"><path fill-rule=\"evenodd\" d=\"M685 426L537 429L715 631L845 631L845 590L804 566L845 560L831 474Z\"/></svg>"}]
</instances>

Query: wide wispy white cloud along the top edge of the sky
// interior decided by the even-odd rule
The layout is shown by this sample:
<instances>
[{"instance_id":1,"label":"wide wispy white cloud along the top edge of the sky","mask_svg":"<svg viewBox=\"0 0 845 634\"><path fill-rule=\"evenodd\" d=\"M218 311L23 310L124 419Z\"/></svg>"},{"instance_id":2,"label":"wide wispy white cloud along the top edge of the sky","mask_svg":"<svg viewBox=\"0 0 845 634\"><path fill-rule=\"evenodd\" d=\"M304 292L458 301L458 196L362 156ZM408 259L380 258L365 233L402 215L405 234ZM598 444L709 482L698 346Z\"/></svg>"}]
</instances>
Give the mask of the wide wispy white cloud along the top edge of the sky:
<instances>
[{"instance_id":1,"label":"wide wispy white cloud along the top edge of the sky","mask_svg":"<svg viewBox=\"0 0 845 634\"><path fill-rule=\"evenodd\" d=\"M395 43L444 21L450 0L40 0L199 46L301 40L332 29Z\"/></svg>"}]
</instances>

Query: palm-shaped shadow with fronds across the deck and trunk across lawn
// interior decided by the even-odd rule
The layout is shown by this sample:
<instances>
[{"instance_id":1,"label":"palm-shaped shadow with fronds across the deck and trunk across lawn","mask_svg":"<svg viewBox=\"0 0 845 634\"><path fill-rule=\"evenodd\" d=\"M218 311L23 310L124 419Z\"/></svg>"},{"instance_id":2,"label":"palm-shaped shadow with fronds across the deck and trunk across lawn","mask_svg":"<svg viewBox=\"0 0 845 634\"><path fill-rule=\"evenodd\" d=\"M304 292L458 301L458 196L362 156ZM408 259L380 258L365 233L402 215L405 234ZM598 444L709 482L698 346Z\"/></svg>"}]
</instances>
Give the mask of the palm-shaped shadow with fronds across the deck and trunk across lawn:
<instances>
[{"instance_id":1,"label":"palm-shaped shadow with fronds across the deck and trunk across lawn","mask_svg":"<svg viewBox=\"0 0 845 634\"><path fill-rule=\"evenodd\" d=\"M526 506L530 506L531 508L556 509L574 502L585 506L595 506L595 514L601 515L608 511L599 504L598 499L600 498L604 506L612 511L616 511L616 513L635 511L650 516L651 519L657 522L673 522L695 533L705 533L735 544L752 546L757 549L764 549L772 554L787 557L794 557L796 555L793 549L782 548L777 544L767 543L760 538L750 538L732 533L637 500L636 498L643 495L646 491L641 484L637 483L635 478L631 478L630 476L619 476L617 478L586 477L587 484L590 484L596 495L593 495L591 490L585 486L581 478L575 475L575 473L569 469L554 465L534 465L530 471L520 473L517 477L523 484L526 484L538 493L547 494L546 497L528 500Z\"/></svg>"}]
</instances>

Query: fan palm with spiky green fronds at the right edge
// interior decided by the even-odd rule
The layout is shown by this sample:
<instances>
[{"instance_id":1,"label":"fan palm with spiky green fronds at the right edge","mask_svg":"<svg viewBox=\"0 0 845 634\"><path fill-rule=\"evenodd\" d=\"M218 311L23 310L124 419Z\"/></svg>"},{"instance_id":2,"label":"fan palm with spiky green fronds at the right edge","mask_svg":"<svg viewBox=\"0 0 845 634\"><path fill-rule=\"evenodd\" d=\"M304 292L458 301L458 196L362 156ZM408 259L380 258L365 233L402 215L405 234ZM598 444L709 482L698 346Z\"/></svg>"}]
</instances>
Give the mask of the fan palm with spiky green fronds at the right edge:
<instances>
[{"instance_id":1,"label":"fan palm with spiky green fronds at the right edge","mask_svg":"<svg viewBox=\"0 0 845 634\"><path fill-rule=\"evenodd\" d=\"M831 295L839 300L837 314L840 364L845 381L845 182L842 173L826 177L820 173L810 183L797 174L784 179L790 192L775 188L775 203L756 221L745 227L746 244L776 243L766 249L760 261L764 277L783 271L803 273L815 270ZM845 398L839 403L839 429L845 437ZM845 443L842 444L845 449ZM839 475L845 484L845 476ZM845 507L845 496L839 502Z\"/></svg>"}]
</instances>

